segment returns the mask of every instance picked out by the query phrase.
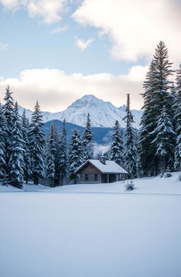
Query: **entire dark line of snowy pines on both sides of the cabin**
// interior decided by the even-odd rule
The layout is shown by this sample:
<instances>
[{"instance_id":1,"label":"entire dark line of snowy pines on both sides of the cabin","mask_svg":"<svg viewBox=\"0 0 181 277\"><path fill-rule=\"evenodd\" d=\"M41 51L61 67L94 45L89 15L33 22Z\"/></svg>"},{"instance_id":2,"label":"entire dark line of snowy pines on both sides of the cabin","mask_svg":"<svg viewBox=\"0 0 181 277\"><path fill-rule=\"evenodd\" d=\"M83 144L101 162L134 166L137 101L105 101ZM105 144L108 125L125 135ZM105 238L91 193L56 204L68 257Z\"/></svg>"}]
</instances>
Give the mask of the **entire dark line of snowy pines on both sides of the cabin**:
<instances>
[{"instance_id":1,"label":"entire dark line of snowy pines on both sides of the cabin","mask_svg":"<svg viewBox=\"0 0 181 277\"><path fill-rule=\"evenodd\" d=\"M173 80L168 49L159 42L144 81L143 116L140 130L132 128L134 118L127 94L124 134L115 122L107 159L126 168L131 178L156 176L176 171L181 165L181 64ZM47 138L42 131L42 112L38 102L31 121L18 113L12 92L6 88L0 105L0 178L3 185L22 187L23 182L48 180L49 185L63 185L67 178L76 183L74 171L87 159L93 159L93 133L88 114L83 134L74 130L71 142L51 126Z\"/></svg>"}]
</instances>

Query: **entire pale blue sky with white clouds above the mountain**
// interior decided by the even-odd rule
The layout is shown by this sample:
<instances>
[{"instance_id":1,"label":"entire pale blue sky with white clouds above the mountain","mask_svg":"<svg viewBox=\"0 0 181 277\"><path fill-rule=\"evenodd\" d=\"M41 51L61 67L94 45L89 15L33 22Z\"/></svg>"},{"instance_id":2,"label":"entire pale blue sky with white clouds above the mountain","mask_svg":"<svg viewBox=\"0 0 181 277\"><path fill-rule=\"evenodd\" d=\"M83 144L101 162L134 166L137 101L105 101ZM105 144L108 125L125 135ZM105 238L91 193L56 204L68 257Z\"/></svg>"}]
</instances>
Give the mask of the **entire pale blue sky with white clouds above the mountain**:
<instances>
[{"instance_id":1,"label":"entire pale blue sky with white clouds above the mountain","mask_svg":"<svg viewBox=\"0 0 181 277\"><path fill-rule=\"evenodd\" d=\"M0 0L0 98L63 111L85 94L143 104L142 83L160 40L181 62L180 0Z\"/></svg>"}]
</instances>

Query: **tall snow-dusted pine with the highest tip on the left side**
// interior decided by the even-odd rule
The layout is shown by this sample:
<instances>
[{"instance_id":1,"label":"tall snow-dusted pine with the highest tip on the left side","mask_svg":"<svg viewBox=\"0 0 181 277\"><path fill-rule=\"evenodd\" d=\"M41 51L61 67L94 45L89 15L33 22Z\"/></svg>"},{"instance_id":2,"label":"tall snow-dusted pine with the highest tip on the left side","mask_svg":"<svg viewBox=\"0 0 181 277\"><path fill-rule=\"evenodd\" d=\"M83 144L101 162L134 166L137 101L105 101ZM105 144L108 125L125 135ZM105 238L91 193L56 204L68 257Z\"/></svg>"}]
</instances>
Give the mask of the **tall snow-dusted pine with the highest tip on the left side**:
<instances>
[{"instance_id":1,"label":"tall snow-dusted pine with the highest tip on the left side","mask_svg":"<svg viewBox=\"0 0 181 277\"><path fill-rule=\"evenodd\" d=\"M3 106L4 116L6 118L6 137L5 137L5 149L6 149L6 166L5 166L5 178L4 183L8 183L8 176L11 171L11 168L8 167L10 155L11 155L11 135L13 130L13 113L14 113L14 100L12 97L10 87L6 88L6 94L4 97L5 104Z\"/></svg>"}]
</instances>

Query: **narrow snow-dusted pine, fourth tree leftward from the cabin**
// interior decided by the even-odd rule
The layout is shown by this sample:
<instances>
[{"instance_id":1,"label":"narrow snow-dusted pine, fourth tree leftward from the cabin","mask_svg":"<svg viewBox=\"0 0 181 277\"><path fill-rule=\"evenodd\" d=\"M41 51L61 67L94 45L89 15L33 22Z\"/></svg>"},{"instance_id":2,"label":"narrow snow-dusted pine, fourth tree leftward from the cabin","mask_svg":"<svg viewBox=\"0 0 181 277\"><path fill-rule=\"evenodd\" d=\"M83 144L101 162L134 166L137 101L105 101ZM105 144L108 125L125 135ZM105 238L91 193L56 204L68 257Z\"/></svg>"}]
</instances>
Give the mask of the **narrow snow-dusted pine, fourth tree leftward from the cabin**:
<instances>
[{"instance_id":1,"label":"narrow snow-dusted pine, fourth tree leftward from the cabin","mask_svg":"<svg viewBox=\"0 0 181 277\"><path fill-rule=\"evenodd\" d=\"M51 125L49 135L47 137L47 170L46 176L52 180L51 186L54 187L54 173L55 173L55 155L56 155L56 137L54 132L54 125Z\"/></svg>"}]
</instances>

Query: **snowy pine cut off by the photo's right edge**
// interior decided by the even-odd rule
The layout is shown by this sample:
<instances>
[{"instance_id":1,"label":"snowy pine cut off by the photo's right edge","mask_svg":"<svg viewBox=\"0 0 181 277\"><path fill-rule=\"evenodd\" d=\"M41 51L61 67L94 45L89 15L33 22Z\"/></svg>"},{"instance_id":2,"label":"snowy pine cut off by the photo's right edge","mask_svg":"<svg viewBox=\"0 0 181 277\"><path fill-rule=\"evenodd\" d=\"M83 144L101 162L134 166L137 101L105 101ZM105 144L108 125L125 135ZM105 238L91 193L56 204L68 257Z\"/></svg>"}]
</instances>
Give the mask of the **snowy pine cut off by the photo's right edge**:
<instances>
[{"instance_id":1,"label":"snowy pine cut off by the photo's right edge","mask_svg":"<svg viewBox=\"0 0 181 277\"><path fill-rule=\"evenodd\" d=\"M175 101L175 127L176 127L176 147L174 168L181 166L181 63L176 75L176 101Z\"/></svg>"}]
</instances>

